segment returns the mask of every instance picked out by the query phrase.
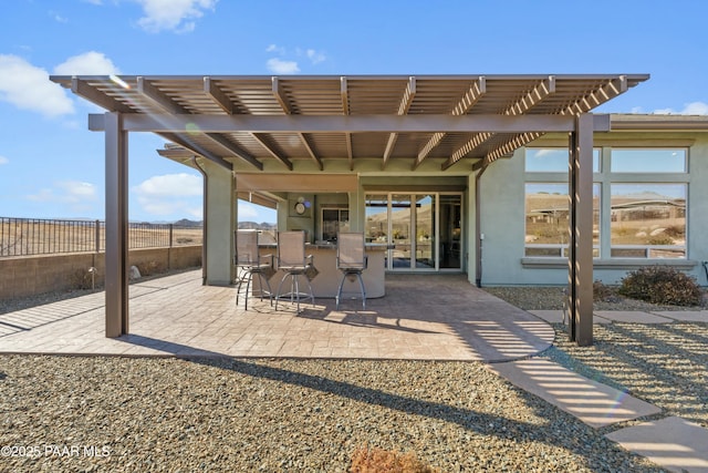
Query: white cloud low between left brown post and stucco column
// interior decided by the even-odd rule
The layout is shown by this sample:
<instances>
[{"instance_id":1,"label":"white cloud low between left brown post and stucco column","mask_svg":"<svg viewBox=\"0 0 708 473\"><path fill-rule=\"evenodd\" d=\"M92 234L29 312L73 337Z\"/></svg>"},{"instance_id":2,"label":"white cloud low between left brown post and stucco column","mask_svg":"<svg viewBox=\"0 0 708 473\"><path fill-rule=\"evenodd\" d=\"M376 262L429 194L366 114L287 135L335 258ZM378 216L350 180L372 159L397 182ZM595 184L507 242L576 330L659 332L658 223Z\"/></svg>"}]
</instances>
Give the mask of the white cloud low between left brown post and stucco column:
<instances>
[{"instance_id":1,"label":"white cloud low between left brown post and stucco column","mask_svg":"<svg viewBox=\"0 0 708 473\"><path fill-rule=\"evenodd\" d=\"M202 182L194 174L165 174L143 181L132 189L147 214L201 218Z\"/></svg>"}]
</instances>

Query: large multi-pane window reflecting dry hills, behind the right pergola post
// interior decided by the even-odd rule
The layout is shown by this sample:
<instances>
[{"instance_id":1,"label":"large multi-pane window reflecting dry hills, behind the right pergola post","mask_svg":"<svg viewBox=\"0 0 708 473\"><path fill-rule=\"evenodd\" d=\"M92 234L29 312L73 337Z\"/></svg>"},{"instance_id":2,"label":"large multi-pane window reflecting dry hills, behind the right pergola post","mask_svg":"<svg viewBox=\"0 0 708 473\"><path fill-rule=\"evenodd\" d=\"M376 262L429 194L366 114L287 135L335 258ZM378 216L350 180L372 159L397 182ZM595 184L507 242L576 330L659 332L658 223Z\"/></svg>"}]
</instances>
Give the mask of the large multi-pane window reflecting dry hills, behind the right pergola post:
<instances>
[{"instance_id":1,"label":"large multi-pane window reflecting dry hills, behind the right pergola post","mask_svg":"<svg viewBox=\"0 0 708 473\"><path fill-rule=\"evenodd\" d=\"M568 157L565 148L527 148L528 257L568 256ZM594 150L594 256L686 258L687 169L685 148Z\"/></svg>"}]
</instances>

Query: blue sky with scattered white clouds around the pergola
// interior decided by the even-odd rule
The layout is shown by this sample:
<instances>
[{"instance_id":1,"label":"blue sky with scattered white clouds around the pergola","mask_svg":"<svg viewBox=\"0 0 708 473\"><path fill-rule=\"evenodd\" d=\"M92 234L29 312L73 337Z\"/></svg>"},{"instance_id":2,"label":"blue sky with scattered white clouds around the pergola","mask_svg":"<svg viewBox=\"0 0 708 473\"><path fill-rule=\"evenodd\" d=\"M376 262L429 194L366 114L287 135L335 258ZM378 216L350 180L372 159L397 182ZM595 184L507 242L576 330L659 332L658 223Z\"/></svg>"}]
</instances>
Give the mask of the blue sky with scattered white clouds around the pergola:
<instances>
[{"instance_id":1,"label":"blue sky with scattered white clouds around the pergola","mask_svg":"<svg viewBox=\"0 0 708 473\"><path fill-rule=\"evenodd\" d=\"M649 73L597 112L708 114L704 0L0 1L3 217L104 218L100 111L50 74ZM131 219L200 219L199 174L129 141Z\"/></svg>"}]
</instances>

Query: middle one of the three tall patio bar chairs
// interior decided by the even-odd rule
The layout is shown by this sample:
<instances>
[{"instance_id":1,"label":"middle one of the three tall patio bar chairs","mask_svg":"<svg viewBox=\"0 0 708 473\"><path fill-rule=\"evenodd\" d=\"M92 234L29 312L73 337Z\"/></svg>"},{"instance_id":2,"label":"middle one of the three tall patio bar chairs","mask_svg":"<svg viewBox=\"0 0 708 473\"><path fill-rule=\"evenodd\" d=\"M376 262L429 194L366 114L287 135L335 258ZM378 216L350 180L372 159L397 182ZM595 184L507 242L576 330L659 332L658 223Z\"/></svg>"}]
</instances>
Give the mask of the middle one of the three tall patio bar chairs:
<instances>
[{"instance_id":1,"label":"middle one of the three tall patio bar chairs","mask_svg":"<svg viewBox=\"0 0 708 473\"><path fill-rule=\"evenodd\" d=\"M305 255L305 233L299 232L279 232L278 233L278 269L284 274L278 285L275 295L275 310L278 310L278 300L290 298L291 302L298 304L298 312L300 312L300 301L312 300L314 306L314 294L312 285L306 275L308 268L313 265L312 255ZM290 278L290 291L282 294L281 289L285 279ZM309 292L300 291L300 279L305 280Z\"/></svg>"}]
</instances>

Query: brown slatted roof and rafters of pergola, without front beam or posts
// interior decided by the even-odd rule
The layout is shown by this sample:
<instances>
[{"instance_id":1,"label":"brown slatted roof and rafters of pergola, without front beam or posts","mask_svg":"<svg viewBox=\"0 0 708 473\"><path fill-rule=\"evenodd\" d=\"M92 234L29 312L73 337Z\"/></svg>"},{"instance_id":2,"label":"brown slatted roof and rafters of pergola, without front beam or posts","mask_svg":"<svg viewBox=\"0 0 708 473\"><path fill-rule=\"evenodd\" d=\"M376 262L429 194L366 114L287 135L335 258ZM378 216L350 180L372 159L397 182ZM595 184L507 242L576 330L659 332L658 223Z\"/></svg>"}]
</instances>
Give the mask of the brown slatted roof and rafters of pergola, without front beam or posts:
<instances>
[{"instance_id":1,"label":"brown slatted roof and rafters of pergola, without front beam or posts","mask_svg":"<svg viewBox=\"0 0 708 473\"><path fill-rule=\"evenodd\" d=\"M576 115L647 79L647 74L51 78L110 112L292 117ZM174 144L160 152L171 158L199 155L247 172L289 172L313 164L326 171L333 162L354 169L364 158L381 160L382 168L392 161L412 169L424 162L442 169L479 160L489 164L543 133L460 132L441 124L419 132L175 128L158 134Z\"/></svg>"}]
</instances>

